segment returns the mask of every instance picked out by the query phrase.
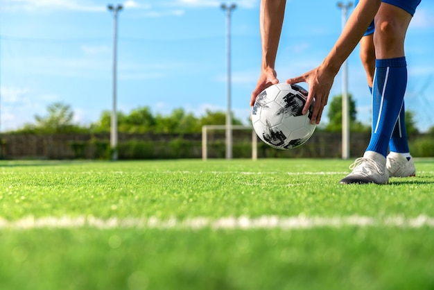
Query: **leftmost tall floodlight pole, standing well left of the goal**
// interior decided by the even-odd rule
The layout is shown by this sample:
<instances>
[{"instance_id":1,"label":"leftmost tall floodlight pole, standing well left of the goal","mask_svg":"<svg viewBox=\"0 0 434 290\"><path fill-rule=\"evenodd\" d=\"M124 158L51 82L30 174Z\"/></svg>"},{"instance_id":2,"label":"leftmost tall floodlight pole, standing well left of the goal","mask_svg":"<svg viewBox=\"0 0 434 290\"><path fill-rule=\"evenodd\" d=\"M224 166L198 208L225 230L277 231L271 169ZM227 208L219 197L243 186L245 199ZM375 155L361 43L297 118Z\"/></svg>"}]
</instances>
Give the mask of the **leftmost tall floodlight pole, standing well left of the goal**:
<instances>
[{"instance_id":1,"label":"leftmost tall floodlight pole, standing well left of the goal","mask_svg":"<svg viewBox=\"0 0 434 290\"><path fill-rule=\"evenodd\" d=\"M122 5L107 5L108 10L112 12L114 19L113 33L113 99L112 99L112 118L110 123L110 147L112 148L112 160L118 159L118 120L116 112L116 65L117 65L117 33L118 33L118 12L122 10Z\"/></svg>"}]
</instances>

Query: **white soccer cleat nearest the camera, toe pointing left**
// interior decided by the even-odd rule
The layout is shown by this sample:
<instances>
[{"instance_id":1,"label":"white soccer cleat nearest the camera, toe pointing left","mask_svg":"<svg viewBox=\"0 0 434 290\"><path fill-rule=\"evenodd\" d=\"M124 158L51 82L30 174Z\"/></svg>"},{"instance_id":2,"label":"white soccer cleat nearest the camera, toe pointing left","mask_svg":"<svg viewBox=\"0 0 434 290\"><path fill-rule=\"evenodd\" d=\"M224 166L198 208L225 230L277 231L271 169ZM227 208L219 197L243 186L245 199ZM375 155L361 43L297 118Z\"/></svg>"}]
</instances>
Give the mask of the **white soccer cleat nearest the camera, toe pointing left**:
<instances>
[{"instance_id":1,"label":"white soccer cleat nearest the camera, toe pointing left","mask_svg":"<svg viewBox=\"0 0 434 290\"><path fill-rule=\"evenodd\" d=\"M388 171L385 169L385 157L374 151L366 151L363 157L357 158L349 166L352 170L340 180L341 185L376 183L385 185L389 181Z\"/></svg>"}]
</instances>

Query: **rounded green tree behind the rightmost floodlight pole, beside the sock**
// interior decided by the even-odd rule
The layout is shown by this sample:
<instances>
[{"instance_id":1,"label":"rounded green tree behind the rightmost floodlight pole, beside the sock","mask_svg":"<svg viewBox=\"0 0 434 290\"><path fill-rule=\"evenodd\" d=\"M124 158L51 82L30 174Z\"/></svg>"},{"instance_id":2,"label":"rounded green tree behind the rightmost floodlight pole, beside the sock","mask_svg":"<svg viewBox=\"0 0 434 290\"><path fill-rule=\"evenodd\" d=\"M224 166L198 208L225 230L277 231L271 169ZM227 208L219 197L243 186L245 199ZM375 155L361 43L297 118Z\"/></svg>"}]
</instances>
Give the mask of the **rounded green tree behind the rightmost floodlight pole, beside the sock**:
<instances>
[{"instance_id":1,"label":"rounded green tree behind the rightmost floodlight pole, beside the sock","mask_svg":"<svg viewBox=\"0 0 434 290\"><path fill-rule=\"evenodd\" d=\"M365 132L369 131L369 126L363 125L360 121L357 121L356 101L353 96L348 94L349 105L349 128L353 132ZM329 132L341 132L342 131L342 95L333 96L329 103L329 110L327 112L329 117L329 123L324 128Z\"/></svg>"}]
</instances>

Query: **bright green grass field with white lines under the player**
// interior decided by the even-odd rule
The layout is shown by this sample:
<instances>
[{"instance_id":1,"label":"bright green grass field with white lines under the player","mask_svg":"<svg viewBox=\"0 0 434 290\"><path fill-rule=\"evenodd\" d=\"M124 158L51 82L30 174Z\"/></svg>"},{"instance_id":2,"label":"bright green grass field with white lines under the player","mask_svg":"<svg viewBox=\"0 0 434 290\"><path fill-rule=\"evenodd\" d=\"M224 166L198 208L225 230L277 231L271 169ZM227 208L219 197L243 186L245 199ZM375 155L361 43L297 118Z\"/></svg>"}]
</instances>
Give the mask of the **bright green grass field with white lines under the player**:
<instances>
[{"instance_id":1,"label":"bright green grass field with white lines under the player","mask_svg":"<svg viewBox=\"0 0 434 290\"><path fill-rule=\"evenodd\" d=\"M0 289L434 289L434 160L0 162Z\"/></svg>"}]
</instances>

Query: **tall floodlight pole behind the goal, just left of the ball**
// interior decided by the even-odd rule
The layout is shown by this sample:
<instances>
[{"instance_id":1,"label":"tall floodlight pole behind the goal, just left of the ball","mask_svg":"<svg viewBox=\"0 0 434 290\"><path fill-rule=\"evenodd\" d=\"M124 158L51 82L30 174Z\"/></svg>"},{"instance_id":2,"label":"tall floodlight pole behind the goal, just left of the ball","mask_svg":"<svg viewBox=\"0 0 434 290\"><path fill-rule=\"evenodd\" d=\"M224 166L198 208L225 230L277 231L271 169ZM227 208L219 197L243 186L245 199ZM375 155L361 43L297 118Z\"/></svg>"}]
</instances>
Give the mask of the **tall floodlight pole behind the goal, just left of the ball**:
<instances>
[{"instance_id":1,"label":"tall floodlight pole behind the goal, just left of the ball","mask_svg":"<svg viewBox=\"0 0 434 290\"><path fill-rule=\"evenodd\" d=\"M220 6L226 12L226 45L227 45L227 111L226 111L226 159L232 159L232 114L231 114L231 12L236 5Z\"/></svg>"}]
</instances>

